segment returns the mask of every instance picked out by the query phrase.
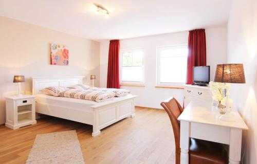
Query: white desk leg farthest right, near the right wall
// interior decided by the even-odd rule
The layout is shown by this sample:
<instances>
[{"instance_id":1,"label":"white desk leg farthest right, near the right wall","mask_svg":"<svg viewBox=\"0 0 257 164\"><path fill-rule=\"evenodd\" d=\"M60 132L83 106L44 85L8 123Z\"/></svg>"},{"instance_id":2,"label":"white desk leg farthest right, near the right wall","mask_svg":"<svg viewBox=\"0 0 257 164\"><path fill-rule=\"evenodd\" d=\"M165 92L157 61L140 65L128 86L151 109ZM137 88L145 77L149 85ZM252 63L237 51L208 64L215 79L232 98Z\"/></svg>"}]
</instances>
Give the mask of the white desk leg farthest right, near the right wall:
<instances>
[{"instance_id":1,"label":"white desk leg farthest right, near the right wall","mask_svg":"<svg viewBox=\"0 0 257 164\"><path fill-rule=\"evenodd\" d=\"M229 163L239 164L241 160L242 130L230 129Z\"/></svg>"}]
</instances>

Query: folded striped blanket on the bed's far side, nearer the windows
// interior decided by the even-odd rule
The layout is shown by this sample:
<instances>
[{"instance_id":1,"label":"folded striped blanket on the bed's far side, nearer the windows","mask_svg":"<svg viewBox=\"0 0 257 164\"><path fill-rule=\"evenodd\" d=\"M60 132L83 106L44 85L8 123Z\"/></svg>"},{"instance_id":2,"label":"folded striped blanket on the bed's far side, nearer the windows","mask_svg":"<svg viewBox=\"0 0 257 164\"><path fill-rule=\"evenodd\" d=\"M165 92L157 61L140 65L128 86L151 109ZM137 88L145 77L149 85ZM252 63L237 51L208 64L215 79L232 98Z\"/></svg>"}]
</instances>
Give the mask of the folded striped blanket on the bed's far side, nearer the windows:
<instances>
[{"instance_id":1,"label":"folded striped blanket on the bed's far side, nearer the windows","mask_svg":"<svg viewBox=\"0 0 257 164\"><path fill-rule=\"evenodd\" d=\"M77 84L69 86L68 88L74 88L79 90L95 90L95 91L103 91L103 92L112 92L116 97L121 97L130 94L130 90L126 89L116 89L116 88L98 88L98 87L90 87L88 85Z\"/></svg>"}]
</instances>

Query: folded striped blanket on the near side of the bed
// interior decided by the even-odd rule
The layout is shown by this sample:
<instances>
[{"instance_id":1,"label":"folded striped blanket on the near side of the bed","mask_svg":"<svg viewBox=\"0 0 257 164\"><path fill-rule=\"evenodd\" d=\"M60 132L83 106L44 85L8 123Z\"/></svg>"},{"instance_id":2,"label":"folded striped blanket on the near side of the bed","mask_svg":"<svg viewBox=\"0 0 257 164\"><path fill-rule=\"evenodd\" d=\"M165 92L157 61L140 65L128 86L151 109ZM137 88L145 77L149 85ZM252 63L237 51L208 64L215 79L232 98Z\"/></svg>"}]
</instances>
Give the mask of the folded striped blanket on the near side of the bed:
<instances>
[{"instance_id":1,"label":"folded striped blanket on the near side of the bed","mask_svg":"<svg viewBox=\"0 0 257 164\"><path fill-rule=\"evenodd\" d=\"M61 92L60 96L101 102L112 99L115 96L115 94L112 92L104 92L98 90L69 89L65 90L64 92Z\"/></svg>"}]
</instances>

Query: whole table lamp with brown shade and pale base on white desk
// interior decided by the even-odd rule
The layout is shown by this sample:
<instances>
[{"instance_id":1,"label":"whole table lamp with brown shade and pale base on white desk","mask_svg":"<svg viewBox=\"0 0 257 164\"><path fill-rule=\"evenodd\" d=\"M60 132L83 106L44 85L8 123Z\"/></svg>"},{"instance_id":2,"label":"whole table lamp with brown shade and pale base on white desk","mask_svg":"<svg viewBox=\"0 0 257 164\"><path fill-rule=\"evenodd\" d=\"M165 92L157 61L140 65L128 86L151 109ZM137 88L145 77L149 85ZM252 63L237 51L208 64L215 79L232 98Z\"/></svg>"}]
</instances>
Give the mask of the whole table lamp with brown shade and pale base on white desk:
<instances>
[{"instance_id":1,"label":"whole table lamp with brown shade and pale base on white desk","mask_svg":"<svg viewBox=\"0 0 257 164\"><path fill-rule=\"evenodd\" d=\"M216 66L214 82L219 83L245 83L243 64L218 64ZM230 85L226 85L226 113L219 117L224 121L234 121L230 115L229 97Z\"/></svg>"}]
</instances>

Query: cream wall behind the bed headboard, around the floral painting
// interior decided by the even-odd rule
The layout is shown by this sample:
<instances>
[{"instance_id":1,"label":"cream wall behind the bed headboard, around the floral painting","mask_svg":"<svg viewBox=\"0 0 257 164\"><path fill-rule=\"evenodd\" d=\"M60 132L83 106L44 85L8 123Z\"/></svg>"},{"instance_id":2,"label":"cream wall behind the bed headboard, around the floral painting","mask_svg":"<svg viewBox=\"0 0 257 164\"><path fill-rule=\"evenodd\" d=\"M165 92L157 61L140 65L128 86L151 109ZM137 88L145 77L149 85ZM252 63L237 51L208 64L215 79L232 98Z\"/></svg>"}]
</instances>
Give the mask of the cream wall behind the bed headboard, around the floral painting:
<instances>
[{"instance_id":1,"label":"cream wall behind the bed headboard, around the floral painting","mask_svg":"<svg viewBox=\"0 0 257 164\"><path fill-rule=\"evenodd\" d=\"M0 124L5 123L5 96L17 94L14 75L24 75L22 90L31 94L33 76L86 76L96 74L99 85L99 42L0 16ZM66 45L69 65L50 65L50 43Z\"/></svg>"}]
</instances>

